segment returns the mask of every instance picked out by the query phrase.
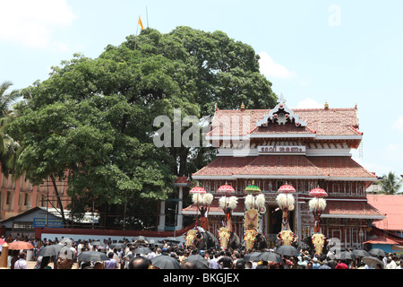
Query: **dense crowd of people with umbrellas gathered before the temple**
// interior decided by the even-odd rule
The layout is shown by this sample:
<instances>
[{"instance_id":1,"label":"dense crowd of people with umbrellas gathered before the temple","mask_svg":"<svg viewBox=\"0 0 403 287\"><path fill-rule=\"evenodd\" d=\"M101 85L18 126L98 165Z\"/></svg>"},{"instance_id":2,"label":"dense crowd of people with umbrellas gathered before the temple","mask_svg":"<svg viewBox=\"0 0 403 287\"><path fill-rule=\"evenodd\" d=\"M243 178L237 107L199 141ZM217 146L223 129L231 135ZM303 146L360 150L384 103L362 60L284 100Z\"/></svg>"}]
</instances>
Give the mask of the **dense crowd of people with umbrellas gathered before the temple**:
<instances>
[{"instance_id":1,"label":"dense crowd of people with umbrellas gathered before the temple","mask_svg":"<svg viewBox=\"0 0 403 287\"><path fill-rule=\"evenodd\" d=\"M4 239L12 242L17 239ZM21 240L18 239L18 240ZM208 269L403 269L403 257L389 253L379 257L379 264L365 265L359 256L353 259L337 259L334 253L328 252L317 256L307 249L300 249L296 256L282 256L279 261L259 260L249 255L258 250L244 250L244 247L230 250L208 248L186 248L183 244L170 241L150 243L147 241L129 241L128 239L113 240L95 239L22 239L29 241L34 248L30 250L9 250L8 268L28 269L27 261L35 261L34 269L158 269L152 259L159 256L173 257L182 269L197 269L200 265L186 260L190 256L200 256ZM117 244L119 243L119 244ZM64 247L56 257L41 257L42 248L54 244ZM116 248L117 247L117 248ZM137 248L146 247L147 253L135 252ZM79 256L85 251L98 251L107 255L107 260L82 261ZM274 251L271 249L259 251Z\"/></svg>"}]
</instances>

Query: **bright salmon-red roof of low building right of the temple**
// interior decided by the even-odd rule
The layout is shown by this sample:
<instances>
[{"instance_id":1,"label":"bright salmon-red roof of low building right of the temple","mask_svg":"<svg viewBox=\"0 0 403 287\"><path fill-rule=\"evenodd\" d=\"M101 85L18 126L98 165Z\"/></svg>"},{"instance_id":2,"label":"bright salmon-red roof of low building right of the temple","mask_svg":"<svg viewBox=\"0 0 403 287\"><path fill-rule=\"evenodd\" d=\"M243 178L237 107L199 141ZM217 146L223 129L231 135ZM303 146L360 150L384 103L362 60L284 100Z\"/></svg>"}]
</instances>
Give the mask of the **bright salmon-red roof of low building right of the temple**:
<instances>
[{"instance_id":1,"label":"bright salmon-red roof of low building right of the temple","mask_svg":"<svg viewBox=\"0 0 403 287\"><path fill-rule=\"evenodd\" d=\"M403 230L403 196L367 195L368 203L375 206L386 218L373 225L382 230Z\"/></svg>"}]
</instances>

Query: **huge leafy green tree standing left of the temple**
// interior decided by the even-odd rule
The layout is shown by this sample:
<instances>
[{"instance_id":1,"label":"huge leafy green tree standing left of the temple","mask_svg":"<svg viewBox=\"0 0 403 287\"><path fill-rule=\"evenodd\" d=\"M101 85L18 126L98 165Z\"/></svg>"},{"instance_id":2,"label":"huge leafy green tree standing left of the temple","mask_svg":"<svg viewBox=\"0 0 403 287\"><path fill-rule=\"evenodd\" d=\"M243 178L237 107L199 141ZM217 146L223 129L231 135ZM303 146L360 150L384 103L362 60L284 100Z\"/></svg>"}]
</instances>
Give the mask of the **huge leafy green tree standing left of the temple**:
<instances>
[{"instance_id":1,"label":"huge leafy green tree standing left of the temple","mask_svg":"<svg viewBox=\"0 0 403 287\"><path fill-rule=\"evenodd\" d=\"M146 29L97 58L74 55L49 78L21 91L21 117L9 126L21 143L18 170L34 184L68 178L74 207L96 202L102 223L149 218L173 191L174 175L200 169L213 149L153 142L161 115L210 116L221 109L269 109L275 95L252 47L221 31ZM186 130L182 126L182 133ZM198 126L201 133L201 126ZM201 144L199 144L201 145ZM66 172L68 170L68 172ZM117 215L120 216L108 216Z\"/></svg>"}]
</instances>

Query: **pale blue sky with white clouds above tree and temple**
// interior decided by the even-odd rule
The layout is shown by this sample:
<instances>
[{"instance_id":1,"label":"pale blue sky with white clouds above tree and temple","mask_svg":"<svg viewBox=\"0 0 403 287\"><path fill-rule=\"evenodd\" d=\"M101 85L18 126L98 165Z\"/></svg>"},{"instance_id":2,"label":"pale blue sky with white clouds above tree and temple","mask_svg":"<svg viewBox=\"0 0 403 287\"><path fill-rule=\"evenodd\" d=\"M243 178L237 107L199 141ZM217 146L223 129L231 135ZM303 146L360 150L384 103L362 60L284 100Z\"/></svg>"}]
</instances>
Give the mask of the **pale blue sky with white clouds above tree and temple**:
<instances>
[{"instance_id":1,"label":"pale blue sky with white clouds above tree and temple","mask_svg":"<svg viewBox=\"0 0 403 287\"><path fill-rule=\"evenodd\" d=\"M386 3L386 4L385 4ZM403 2L347 0L0 0L0 82L46 80L73 53L98 57L144 26L222 30L251 45L290 108L358 107L363 153L377 175L403 174ZM146 7L148 17L146 14Z\"/></svg>"}]
</instances>

